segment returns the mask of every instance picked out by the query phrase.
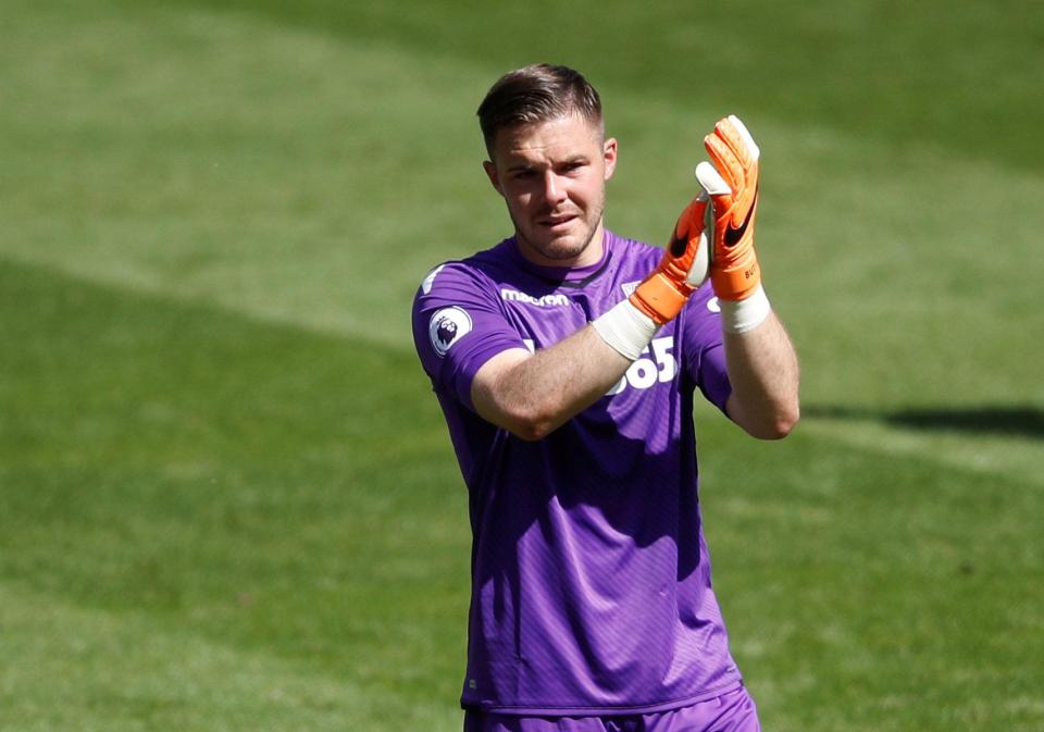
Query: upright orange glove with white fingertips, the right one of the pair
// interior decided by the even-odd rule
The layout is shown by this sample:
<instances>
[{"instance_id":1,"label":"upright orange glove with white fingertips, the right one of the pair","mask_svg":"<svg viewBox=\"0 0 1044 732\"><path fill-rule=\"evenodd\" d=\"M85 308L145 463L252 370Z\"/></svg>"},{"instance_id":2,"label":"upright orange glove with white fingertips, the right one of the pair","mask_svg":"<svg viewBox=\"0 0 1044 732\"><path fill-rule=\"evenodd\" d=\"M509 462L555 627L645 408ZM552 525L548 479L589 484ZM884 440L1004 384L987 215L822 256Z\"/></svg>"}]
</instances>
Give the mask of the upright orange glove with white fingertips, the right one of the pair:
<instances>
[{"instance_id":1,"label":"upright orange glove with white fingertips, the right one of the pair","mask_svg":"<svg viewBox=\"0 0 1044 732\"><path fill-rule=\"evenodd\" d=\"M745 300L761 284L754 251L760 150L733 115L718 122L714 132L704 138L704 147L714 163L696 166L696 178L713 208L710 284L719 300Z\"/></svg>"}]
</instances>

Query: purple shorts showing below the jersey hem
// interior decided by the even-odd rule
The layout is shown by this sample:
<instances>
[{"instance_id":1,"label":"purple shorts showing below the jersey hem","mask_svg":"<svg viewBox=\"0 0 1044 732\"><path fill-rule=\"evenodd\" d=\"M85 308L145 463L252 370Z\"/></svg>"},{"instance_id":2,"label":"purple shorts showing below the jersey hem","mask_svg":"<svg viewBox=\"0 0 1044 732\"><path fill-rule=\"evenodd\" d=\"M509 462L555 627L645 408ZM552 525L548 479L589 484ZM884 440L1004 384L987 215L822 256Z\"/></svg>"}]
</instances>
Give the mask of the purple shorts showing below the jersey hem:
<instances>
[{"instance_id":1,"label":"purple shorts showing below the jersey hem","mask_svg":"<svg viewBox=\"0 0 1044 732\"><path fill-rule=\"evenodd\" d=\"M758 710L739 687L707 702L649 715L515 717L464 714L464 732L761 732Z\"/></svg>"}]
</instances>

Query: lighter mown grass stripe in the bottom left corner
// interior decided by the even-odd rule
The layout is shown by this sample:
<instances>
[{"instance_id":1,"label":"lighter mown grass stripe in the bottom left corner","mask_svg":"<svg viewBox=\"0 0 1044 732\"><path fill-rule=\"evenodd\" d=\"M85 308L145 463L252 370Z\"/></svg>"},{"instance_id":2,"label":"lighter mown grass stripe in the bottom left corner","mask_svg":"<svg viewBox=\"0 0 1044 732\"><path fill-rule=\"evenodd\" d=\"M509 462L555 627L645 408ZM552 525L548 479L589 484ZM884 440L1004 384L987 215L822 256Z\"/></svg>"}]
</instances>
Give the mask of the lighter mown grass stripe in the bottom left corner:
<instances>
[{"instance_id":1,"label":"lighter mown grass stripe in the bottom left corner","mask_svg":"<svg viewBox=\"0 0 1044 732\"><path fill-rule=\"evenodd\" d=\"M374 694L147 612L87 608L21 584L0 583L3 730L459 728L445 704Z\"/></svg>"}]
</instances>

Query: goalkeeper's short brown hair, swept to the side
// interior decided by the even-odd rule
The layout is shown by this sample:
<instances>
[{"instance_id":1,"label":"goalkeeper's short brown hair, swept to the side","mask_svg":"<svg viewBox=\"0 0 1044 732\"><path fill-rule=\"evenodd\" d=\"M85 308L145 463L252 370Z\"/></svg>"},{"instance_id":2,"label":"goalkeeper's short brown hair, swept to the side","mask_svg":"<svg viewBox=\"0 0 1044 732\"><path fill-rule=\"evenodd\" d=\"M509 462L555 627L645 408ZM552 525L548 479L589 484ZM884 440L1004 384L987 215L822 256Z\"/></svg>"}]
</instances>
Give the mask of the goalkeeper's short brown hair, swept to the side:
<instances>
[{"instance_id":1,"label":"goalkeeper's short brown hair, swept to the side","mask_svg":"<svg viewBox=\"0 0 1044 732\"><path fill-rule=\"evenodd\" d=\"M601 98L579 71L537 63L497 79L478 106L478 125L492 153L497 133L505 127L568 114L601 125Z\"/></svg>"}]
</instances>

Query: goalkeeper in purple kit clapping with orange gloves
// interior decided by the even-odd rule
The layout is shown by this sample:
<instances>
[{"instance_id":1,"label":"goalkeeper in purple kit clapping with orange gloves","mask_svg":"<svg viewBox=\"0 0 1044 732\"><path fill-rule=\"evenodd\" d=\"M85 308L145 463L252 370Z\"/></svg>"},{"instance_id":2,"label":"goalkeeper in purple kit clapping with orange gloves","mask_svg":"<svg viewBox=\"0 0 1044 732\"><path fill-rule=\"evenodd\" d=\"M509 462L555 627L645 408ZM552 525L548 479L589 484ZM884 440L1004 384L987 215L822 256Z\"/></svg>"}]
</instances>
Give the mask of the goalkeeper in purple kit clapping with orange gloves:
<instances>
[{"instance_id":1,"label":"goalkeeper in purple kit clapping with orange gloves","mask_svg":"<svg viewBox=\"0 0 1044 732\"><path fill-rule=\"evenodd\" d=\"M759 730L711 587L693 425L697 389L755 437L798 419L754 247L758 147L717 124L659 249L605 228L618 144L577 72L511 72L478 117L513 233L435 268L413 305L470 499L464 729Z\"/></svg>"}]
</instances>

